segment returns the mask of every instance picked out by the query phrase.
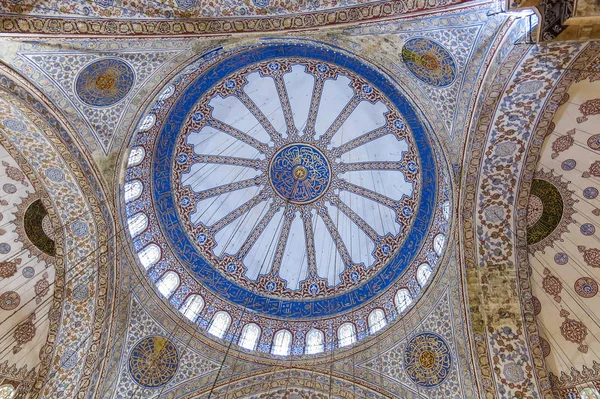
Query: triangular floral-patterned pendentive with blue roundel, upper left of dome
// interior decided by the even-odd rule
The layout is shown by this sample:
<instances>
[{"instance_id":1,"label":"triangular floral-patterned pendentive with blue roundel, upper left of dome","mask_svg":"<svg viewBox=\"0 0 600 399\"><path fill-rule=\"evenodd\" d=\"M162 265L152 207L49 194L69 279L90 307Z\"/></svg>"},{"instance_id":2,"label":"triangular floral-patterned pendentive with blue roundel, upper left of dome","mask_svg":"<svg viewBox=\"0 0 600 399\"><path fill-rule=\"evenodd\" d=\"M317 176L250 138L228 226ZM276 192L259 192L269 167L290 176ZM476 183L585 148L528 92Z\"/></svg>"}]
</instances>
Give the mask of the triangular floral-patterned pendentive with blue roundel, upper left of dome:
<instances>
[{"instance_id":1,"label":"triangular floral-patterned pendentive with blue roundel, upper left of dome","mask_svg":"<svg viewBox=\"0 0 600 399\"><path fill-rule=\"evenodd\" d=\"M60 105L88 149L100 149L103 154L118 144L119 132L128 128L138 111L130 106L136 94L167 73L174 58L185 50L164 44L140 45L135 52L21 47L13 66Z\"/></svg>"}]
</instances>

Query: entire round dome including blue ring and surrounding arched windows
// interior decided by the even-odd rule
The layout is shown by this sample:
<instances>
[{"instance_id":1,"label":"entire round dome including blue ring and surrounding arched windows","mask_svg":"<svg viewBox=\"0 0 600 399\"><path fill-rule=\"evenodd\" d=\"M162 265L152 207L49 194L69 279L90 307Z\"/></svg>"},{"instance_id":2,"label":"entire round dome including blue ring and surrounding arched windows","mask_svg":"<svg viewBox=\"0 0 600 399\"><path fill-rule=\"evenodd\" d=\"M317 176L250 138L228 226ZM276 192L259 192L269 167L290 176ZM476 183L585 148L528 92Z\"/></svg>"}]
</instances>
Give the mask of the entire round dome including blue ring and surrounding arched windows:
<instances>
[{"instance_id":1,"label":"entire round dome including blue ring and surrounding arched windows","mask_svg":"<svg viewBox=\"0 0 600 399\"><path fill-rule=\"evenodd\" d=\"M341 107L323 112L319 99L344 90ZM269 119L277 107L281 120ZM236 120L242 109L250 122ZM379 125L358 126L355 113ZM287 42L209 53L163 89L136 133L122 186L132 248L160 295L216 339L275 356L352 346L408 312L444 257L442 151L397 86L351 55Z\"/></svg>"}]
</instances>

